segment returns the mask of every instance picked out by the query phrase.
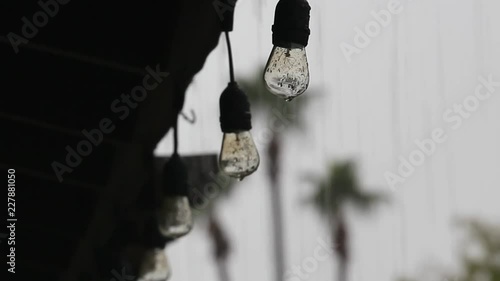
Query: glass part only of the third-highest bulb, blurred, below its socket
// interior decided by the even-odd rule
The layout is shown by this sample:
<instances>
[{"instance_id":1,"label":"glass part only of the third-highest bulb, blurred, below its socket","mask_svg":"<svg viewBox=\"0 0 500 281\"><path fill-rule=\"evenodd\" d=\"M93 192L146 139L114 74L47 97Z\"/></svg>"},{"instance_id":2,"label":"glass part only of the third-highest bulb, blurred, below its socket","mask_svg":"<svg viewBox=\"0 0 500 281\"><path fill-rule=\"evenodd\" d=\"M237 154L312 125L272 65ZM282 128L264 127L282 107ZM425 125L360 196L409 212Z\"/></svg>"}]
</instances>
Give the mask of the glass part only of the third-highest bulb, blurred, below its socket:
<instances>
[{"instance_id":1,"label":"glass part only of the third-highest bulb, blurred, below its socket","mask_svg":"<svg viewBox=\"0 0 500 281\"><path fill-rule=\"evenodd\" d=\"M168 238L178 238L193 227L193 215L186 196L166 196L160 209L160 232Z\"/></svg>"}]
</instances>

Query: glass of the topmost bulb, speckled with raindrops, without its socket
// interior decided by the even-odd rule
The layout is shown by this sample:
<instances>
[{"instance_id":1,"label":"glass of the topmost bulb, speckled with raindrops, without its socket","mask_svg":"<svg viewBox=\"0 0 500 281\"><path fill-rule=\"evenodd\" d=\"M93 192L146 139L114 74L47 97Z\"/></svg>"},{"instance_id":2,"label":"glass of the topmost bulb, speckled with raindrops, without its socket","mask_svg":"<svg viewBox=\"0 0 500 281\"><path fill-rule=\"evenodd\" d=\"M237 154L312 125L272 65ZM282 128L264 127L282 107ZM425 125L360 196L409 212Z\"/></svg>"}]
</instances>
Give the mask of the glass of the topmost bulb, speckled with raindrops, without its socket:
<instances>
[{"instance_id":1,"label":"glass of the topmost bulb, speckled with raindrops, without its socket","mask_svg":"<svg viewBox=\"0 0 500 281\"><path fill-rule=\"evenodd\" d=\"M309 86L309 64L306 49L292 44L291 48L274 46L264 71L266 87L278 97L291 101Z\"/></svg>"}]
</instances>

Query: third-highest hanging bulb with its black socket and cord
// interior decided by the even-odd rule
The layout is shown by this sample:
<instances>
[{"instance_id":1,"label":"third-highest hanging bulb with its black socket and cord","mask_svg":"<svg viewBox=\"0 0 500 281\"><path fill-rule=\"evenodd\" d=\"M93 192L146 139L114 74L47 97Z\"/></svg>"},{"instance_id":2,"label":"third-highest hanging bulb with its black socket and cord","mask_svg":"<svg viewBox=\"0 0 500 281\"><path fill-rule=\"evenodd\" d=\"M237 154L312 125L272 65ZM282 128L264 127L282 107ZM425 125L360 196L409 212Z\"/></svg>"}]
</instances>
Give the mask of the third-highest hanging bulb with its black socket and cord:
<instances>
[{"instance_id":1,"label":"third-highest hanging bulb with its black socket and cord","mask_svg":"<svg viewBox=\"0 0 500 281\"><path fill-rule=\"evenodd\" d=\"M176 131L174 128L174 132ZM174 139L177 139L176 133ZM158 214L158 226L165 237L179 238L186 235L193 227L187 179L187 168L179 154L174 152L163 167L164 196Z\"/></svg>"}]
</instances>

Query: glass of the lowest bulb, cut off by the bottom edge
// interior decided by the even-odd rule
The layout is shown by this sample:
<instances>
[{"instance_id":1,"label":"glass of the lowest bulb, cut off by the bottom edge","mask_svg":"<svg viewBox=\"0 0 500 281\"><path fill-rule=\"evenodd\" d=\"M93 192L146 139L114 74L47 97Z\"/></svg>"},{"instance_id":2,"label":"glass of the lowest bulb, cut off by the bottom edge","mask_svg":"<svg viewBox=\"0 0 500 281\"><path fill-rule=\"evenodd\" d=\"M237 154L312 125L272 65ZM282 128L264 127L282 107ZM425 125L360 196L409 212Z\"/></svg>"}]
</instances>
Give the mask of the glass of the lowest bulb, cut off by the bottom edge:
<instances>
[{"instance_id":1,"label":"glass of the lowest bulb, cut off by the bottom edge","mask_svg":"<svg viewBox=\"0 0 500 281\"><path fill-rule=\"evenodd\" d=\"M164 281L172 275L172 270L164 249L148 250L142 258L138 281Z\"/></svg>"}]
</instances>

